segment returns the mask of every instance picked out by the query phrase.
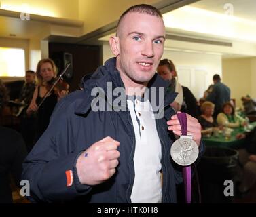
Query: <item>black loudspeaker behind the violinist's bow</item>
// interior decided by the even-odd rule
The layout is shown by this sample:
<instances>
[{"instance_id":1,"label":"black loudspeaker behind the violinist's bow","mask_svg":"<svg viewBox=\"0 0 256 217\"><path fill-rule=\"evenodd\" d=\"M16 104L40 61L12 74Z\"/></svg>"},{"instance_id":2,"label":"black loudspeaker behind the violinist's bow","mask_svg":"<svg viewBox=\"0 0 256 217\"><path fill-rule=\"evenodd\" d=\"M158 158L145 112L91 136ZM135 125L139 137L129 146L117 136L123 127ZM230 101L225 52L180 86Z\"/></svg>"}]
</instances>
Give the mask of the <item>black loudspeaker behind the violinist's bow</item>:
<instances>
[{"instance_id":1,"label":"black loudspeaker behind the violinist's bow","mask_svg":"<svg viewBox=\"0 0 256 217\"><path fill-rule=\"evenodd\" d=\"M67 66L67 64L70 63L69 68L67 69L66 73L63 75L63 79L65 81L71 81L73 78L73 56L70 53L67 52L54 52L50 58L54 61L56 64L56 67L58 68L58 74L60 74L64 68Z\"/></svg>"}]
</instances>

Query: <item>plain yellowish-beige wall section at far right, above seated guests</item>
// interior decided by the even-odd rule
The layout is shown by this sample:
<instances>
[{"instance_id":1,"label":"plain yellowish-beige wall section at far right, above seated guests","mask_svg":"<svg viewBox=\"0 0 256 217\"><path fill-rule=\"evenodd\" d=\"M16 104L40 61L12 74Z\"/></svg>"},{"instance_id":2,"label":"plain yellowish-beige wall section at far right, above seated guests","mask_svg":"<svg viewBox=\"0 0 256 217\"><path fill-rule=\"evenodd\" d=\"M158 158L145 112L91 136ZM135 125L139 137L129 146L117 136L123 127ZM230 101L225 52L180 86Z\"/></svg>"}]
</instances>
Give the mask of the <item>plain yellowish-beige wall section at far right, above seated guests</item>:
<instances>
[{"instance_id":1,"label":"plain yellowish-beige wall section at far right, above seated guests","mask_svg":"<svg viewBox=\"0 0 256 217\"><path fill-rule=\"evenodd\" d=\"M256 58L232 58L222 62L223 83L231 89L231 97L242 107L240 98L249 94L256 97Z\"/></svg>"}]
</instances>

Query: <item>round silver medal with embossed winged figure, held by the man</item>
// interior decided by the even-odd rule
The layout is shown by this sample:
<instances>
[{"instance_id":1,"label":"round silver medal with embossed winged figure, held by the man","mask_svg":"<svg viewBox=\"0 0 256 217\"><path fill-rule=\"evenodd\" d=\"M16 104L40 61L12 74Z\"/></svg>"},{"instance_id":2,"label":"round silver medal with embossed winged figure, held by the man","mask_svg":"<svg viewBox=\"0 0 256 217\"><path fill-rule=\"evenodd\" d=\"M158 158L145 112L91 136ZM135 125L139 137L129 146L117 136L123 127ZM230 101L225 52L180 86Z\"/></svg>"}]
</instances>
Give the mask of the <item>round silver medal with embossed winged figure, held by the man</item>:
<instances>
[{"instance_id":1,"label":"round silver medal with embossed winged figure, held by the man","mask_svg":"<svg viewBox=\"0 0 256 217\"><path fill-rule=\"evenodd\" d=\"M191 165L198 158L198 146L189 136L181 136L170 148L170 156L175 163L183 166Z\"/></svg>"}]
</instances>

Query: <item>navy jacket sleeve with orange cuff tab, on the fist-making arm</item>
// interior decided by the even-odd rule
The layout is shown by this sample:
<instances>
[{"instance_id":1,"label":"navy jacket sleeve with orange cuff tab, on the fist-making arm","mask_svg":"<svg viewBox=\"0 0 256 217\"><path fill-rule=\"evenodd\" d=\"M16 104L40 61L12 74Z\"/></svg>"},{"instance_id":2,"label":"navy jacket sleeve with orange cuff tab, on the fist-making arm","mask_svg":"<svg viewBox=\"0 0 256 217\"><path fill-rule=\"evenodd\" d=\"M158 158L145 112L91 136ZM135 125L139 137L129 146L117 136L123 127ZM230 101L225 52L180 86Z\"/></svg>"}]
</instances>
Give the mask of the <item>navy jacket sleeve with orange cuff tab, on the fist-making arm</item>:
<instances>
[{"instance_id":1,"label":"navy jacket sleeve with orange cuff tab, on the fist-making arm","mask_svg":"<svg viewBox=\"0 0 256 217\"><path fill-rule=\"evenodd\" d=\"M22 178L29 180L31 201L71 200L90 191L91 186L79 184L75 170L77 157L83 151L76 150L73 144L75 116L72 106L60 100L48 129L24 161Z\"/></svg>"}]
</instances>

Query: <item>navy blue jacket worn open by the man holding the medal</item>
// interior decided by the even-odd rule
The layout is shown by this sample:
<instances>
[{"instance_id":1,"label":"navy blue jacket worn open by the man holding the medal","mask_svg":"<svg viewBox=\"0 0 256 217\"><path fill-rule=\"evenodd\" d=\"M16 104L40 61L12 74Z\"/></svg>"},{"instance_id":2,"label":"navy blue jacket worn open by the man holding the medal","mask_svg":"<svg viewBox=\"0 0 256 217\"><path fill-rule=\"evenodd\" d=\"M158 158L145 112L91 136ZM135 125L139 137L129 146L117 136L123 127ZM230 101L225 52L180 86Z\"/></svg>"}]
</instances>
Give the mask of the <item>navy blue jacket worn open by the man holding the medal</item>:
<instances>
[{"instance_id":1,"label":"navy blue jacket worn open by the man holding the medal","mask_svg":"<svg viewBox=\"0 0 256 217\"><path fill-rule=\"evenodd\" d=\"M69 94L58 102L52 114L50 125L35 144L24 162L22 178L29 180L31 201L69 201L79 199L88 203L131 203L130 195L134 182L135 134L132 119L126 111L98 111L91 109L93 87L101 87L107 92L107 82L115 87L124 87L120 73L115 68L115 58L100 66L92 77L85 81L84 90ZM168 83L154 75L151 87L165 87ZM156 127L162 145L162 202L175 203L175 184L182 182L181 168L170 158L172 140L166 120L174 114L169 106L176 94L166 94L163 102L164 117L156 119ZM116 96L113 96L116 98ZM105 97L105 101L109 101ZM83 185L79 182L75 164L81 151L88 149L106 136L120 142L119 165L116 173L103 184ZM200 146L202 151L203 146ZM67 187L65 171L72 170L74 183ZM88 174L90 176L90 174ZM147 178L147 177L145 177Z\"/></svg>"}]
</instances>

